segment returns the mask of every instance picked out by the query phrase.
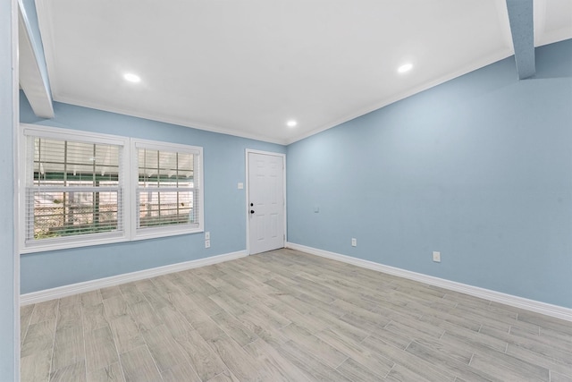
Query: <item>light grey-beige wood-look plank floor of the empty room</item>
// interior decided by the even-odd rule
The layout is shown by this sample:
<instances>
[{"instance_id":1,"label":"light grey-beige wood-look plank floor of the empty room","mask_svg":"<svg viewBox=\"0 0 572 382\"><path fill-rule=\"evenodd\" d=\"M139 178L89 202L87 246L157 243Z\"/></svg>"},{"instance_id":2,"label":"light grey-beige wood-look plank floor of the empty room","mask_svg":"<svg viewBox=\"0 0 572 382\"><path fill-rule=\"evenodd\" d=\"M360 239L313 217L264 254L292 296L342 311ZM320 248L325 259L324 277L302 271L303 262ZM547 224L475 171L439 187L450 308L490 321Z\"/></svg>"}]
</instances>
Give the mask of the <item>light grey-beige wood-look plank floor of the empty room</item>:
<instances>
[{"instance_id":1,"label":"light grey-beige wood-look plank floor of the empty room","mask_svg":"<svg viewBox=\"0 0 572 382\"><path fill-rule=\"evenodd\" d=\"M275 250L21 308L22 381L572 381L572 323Z\"/></svg>"}]
</instances>

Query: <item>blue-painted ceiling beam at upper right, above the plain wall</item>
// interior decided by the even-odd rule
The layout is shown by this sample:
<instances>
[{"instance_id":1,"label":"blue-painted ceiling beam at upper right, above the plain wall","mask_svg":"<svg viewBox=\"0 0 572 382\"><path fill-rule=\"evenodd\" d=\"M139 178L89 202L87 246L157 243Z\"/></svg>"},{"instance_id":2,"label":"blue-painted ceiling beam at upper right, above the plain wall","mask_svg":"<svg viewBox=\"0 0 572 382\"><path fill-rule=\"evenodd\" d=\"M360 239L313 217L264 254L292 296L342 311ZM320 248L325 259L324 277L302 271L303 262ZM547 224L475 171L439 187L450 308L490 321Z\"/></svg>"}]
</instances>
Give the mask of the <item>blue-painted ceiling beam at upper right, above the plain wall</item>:
<instances>
[{"instance_id":1,"label":"blue-painted ceiling beam at upper right, above the plain wall","mask_svg":"<svg viewBox=\"0 0 572 382\"><path fill-rule=\"evenodd\" d=\"M518 79L524 80L536 72L533 0L507 0L507 8L512 44L515 47Z\"/></svg>"}]
</instances>

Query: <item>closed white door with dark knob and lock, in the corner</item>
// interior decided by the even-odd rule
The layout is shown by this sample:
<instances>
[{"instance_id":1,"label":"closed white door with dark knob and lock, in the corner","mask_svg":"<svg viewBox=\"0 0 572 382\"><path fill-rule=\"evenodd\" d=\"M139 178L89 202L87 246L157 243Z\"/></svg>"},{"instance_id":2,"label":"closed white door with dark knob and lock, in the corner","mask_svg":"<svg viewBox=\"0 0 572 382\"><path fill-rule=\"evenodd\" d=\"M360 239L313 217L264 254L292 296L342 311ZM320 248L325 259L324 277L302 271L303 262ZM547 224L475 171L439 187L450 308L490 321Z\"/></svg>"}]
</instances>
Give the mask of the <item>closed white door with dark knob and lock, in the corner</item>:
<instances>
[{"instance_id":1,"label":"closed white door with dark knob and lock, in the corner","mask_svg":"<svg viewBox=\"0 0 572 382\"><path fill-rule=\"evenodd\" d=\"M284 157L248 152L250 254L284 247Z\"/></svg>"}]
</instances>

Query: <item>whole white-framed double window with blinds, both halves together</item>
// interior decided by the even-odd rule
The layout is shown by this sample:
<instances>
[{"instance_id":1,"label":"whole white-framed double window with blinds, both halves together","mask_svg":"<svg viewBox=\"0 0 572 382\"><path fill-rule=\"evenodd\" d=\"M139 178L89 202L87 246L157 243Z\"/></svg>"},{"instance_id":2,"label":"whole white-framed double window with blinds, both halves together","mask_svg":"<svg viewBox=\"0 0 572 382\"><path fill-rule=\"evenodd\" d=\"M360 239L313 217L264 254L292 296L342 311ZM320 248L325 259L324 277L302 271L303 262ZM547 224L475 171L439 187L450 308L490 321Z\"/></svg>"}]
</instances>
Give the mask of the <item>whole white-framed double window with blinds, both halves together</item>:
<instances>
[{"instance_id":1,"label":"whole white-framed double window with blinds, both halves together","mask_svg":"<svg viewBox=\"0 0 572 382\"><path fill-rule=\"evenodd\" d=\"M202 148L22 132L21 252L202 231Z\"/></svg>"}]
</instances>

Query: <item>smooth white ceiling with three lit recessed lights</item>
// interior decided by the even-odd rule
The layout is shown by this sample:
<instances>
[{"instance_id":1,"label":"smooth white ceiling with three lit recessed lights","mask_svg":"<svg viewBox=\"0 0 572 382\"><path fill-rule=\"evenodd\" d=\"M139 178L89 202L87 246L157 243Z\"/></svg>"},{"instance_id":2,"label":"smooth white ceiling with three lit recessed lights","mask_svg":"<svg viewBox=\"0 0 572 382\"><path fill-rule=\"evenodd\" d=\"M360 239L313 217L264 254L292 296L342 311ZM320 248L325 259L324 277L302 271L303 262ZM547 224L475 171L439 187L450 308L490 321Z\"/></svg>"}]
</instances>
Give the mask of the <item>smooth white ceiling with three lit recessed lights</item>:
<instances>
[{"instance_id":1,"label":"smooth white ceiling with three lit recessed lights","mask_svg":"<svg viewBox=\"0 0 572 382\"><path fill-rule=\"evenodd\" d=\"M514 53L505 0L36 4L55 101L282 144ZM566 38L572 0L535 0L535 46Z\"/></svg>"}]
</instances>

